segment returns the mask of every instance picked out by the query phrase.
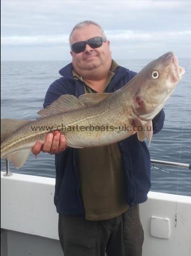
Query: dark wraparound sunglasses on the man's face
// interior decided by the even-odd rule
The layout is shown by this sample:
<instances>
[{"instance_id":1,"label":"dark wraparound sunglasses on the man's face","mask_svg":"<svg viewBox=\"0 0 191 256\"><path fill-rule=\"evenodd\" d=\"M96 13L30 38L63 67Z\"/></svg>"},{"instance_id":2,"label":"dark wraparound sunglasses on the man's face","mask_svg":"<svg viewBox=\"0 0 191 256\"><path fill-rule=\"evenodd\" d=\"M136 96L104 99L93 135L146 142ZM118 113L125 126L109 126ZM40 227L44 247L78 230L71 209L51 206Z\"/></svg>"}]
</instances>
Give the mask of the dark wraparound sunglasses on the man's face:
<instances>
[{"instance_id":1,"label":"dark wraparound sunglasses on the man's face","mask_svg":"<svg viewBox=\"0 0 191 256\"><path fill-rule=\"evenodd\" d=\"M87 41L81 41L72 44L71 49L75 53L80 53L84 51L84 49L86 48L86 44L88 44L88 46L90 46L91 48L95 49L101 47L103 42L106 41L103 38L101 38L101 36L95 36L95 38L90 38Z\"/></svg>"}]
</instances>

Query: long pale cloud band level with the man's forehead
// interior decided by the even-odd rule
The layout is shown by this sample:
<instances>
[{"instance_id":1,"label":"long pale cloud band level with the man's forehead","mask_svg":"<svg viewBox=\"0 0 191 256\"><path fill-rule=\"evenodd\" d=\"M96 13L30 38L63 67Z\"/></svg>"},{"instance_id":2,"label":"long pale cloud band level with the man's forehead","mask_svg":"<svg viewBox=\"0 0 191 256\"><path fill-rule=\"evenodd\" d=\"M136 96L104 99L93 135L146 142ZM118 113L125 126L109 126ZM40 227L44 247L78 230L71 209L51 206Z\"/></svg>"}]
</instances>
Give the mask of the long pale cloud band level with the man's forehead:
<instances>
[{"instance_id":1,"label":"long pale cloud band level with the man's forehead","mask_svg":"<svg viewBox=\"0 0 191 256\"><path fill-rule=\"evenodd\" d=\"M142 32L133 30L105 31L113 44L130 42L191 42L191 31ZM2 36L1 44L7 46L55 46L69 44L69 35Z\"/></svg>"}]
</instances>

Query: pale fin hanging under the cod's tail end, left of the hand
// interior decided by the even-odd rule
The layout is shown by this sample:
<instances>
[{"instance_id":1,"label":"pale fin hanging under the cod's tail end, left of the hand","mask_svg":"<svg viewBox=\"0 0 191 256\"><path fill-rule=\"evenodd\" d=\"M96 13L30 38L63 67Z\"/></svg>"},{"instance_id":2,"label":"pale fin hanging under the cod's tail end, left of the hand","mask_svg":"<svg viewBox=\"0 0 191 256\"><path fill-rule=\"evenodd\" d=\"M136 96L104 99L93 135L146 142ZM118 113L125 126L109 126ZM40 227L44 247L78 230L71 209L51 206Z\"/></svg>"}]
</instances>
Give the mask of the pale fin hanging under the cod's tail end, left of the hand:
<instances>
[{"instance_id":1,"label":"pale fin hanging under the cod's tail end, left of the hand","mask_svg":"<svg viewBox=\"0 0 191 256\"><path fill-rule=\"evenodd\" d=\"M23 166L23 164L27 161L27 158L31 152L31 148L24 148L24 150L19 150L12 152L8 155L6 155L6 159L12 162L15 166L15 168L20 168Z\"/></svg>"}]
</instances>

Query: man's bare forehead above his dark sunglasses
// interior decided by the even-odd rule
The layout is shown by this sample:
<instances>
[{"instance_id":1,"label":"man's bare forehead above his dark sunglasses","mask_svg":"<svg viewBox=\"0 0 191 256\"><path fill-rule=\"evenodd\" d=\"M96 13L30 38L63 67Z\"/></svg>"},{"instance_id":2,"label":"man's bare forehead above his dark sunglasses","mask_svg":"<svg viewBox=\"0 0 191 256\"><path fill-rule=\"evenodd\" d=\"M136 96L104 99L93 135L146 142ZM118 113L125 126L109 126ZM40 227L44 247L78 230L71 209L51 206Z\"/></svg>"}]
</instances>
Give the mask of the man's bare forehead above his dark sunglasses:
<instances>
[{"instance_id":1,"label":"man's bare forehead above his dark sunglasses","mask_svg":"<svg viewBox=\"0 0 191 256\"><path fill-rule=\"evenodd\" d=\"M80 27L75 29L71 35L71 43L85 41L90 38L94 38L94 36L102 36L101 29L99 27L93 24L86 27Z\"/></svg>"}]
</instances>

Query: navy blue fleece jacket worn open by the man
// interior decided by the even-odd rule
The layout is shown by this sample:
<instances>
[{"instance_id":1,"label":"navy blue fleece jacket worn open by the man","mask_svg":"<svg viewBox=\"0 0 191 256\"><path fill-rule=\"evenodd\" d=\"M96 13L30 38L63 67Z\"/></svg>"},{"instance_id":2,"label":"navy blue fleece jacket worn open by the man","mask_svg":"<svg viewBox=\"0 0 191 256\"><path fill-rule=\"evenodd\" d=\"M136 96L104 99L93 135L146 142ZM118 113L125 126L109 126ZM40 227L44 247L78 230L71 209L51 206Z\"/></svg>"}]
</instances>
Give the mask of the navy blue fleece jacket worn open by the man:
<instances>
[{"instance_id":1,"label":"navy blue fleece jacket worn open by the man","mask_svg":"<svg viewBox=\"0 0 191 256\"><path fill-rule=\"evenodd\" d=\"M50 85L44 101L44 107L57 100L63 94L73 94L79 97L84 94L83 82L74 79L72 64L60 70L62 77ZM118 66L105 92L114 92L124 86L136 75L124 67ZM154 134L163 127L164 112L160 111L152 120ZM125 197L129 205L143 203L147 200L147 193L151 186L150 181L150 154L145 142L138 141L137 134L118 142L121 152ZM75 148L67 148L55 156L56 187L54 204L61 214L83 215L84 207L80 196L80 183L77 172L77 155Z\"/></svg>"}]
</instances>

